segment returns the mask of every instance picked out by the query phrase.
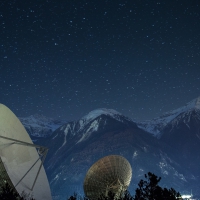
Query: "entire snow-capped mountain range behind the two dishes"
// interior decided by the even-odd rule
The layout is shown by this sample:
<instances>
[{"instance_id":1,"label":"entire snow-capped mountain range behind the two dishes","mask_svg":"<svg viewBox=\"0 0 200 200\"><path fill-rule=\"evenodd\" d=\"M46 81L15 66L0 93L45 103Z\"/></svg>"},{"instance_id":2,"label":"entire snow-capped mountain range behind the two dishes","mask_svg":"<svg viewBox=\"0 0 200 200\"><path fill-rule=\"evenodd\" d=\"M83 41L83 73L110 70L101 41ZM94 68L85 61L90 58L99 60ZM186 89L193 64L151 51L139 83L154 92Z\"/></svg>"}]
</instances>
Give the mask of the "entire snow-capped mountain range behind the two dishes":
<instances>
[{"instance_id":1,"label":"entire snow-capped mountain range behind the two dishes","mask_svg":"<svg viewBox=\"0 0 200 200\"><path fill-rule=\"evenodd\" d=\"M44 166L54 199L83 194L89 167L111 154L129 160L133 170L129 191L133 194L150 171L161 176L163 187L200 195L200 97L143 122L105 108L77 121L38 115L20 120L35 143L49 147Z\"/></svg>"}]
</instances>

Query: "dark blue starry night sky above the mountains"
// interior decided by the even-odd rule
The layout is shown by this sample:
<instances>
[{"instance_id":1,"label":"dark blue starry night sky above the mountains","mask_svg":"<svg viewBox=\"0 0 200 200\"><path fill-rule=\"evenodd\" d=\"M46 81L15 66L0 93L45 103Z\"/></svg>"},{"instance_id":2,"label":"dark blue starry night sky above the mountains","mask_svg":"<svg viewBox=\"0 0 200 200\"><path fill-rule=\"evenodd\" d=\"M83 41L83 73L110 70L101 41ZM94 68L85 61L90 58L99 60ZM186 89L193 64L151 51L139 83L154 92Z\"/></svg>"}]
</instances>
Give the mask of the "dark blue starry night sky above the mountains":
<instances>
[{"instance_id":1,"label":"dark blue starry night sky above the mountains","mask_svg":"<svg viewBox=\"0 0 200 200\"><path fill-rule=\"evenodd\" d=\"M146 120L200 95L199 0L0 1L0 103Z\"/></svg>"}]
</instances>

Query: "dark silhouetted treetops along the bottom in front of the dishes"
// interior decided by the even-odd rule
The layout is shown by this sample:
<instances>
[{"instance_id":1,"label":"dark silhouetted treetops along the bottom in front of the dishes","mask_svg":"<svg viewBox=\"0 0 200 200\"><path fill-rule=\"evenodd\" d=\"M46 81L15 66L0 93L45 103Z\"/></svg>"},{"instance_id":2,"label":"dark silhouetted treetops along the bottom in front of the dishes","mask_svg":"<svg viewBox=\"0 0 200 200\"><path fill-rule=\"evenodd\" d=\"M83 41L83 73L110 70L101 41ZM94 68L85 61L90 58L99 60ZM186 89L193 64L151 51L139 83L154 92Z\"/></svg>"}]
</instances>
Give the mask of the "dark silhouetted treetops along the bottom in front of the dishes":
<instances>
[{"instance_id":1,"label":"dark silhouetted treetops along the bottom in front of the dishes","mask_svg":"<svg viewBox=\"0 0 200 200\"><path fill-rule=\"evenodd\" d=\"M120 198L115 198L115 194L109 192L108 196L100 196L97 200L177 200L181 199L179 192L176 192L173 188L162 188L158 185L161 178L155 174L148 172L145 174L145 180L140 180L138 188L135 191L135 195L126 191ZM87 197L80 197L76 194L67 198L68 200L89 200ZM0 200L35 200L31 195L22 192L19 194L6 183L0 188ZM40 199L38 199L40 200ZM41 199L42 200L42 199Z\"/></svg>"}]
</instances>

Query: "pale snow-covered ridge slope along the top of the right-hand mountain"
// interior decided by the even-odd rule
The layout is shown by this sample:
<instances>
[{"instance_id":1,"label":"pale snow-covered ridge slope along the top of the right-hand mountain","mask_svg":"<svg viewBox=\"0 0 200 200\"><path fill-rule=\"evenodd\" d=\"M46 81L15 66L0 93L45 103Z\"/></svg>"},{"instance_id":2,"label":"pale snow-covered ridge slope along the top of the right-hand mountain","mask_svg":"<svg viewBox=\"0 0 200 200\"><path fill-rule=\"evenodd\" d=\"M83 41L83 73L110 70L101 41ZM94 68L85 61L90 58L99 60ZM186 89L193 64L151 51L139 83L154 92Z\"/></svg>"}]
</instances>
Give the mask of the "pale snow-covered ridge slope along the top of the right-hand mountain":
<instances>
[{"instance_id":1,"label":"pale snow-covered ridge slope along the top of the right-hand mountain","mask_svg":"<svg viewBox=\"0 0 200 200\"><path fill-rule=\"evenodd\" d=\"M183 107L166 112L162 116L153 120L139 122L137 123L137 125L139 128L153 134L155 137L159 137L160 132L169 122L171 122L183 113L189 115L193 110L200 110L200 97L193 99ZM177 120L178 119L180 120L180 117L177 118ZM174 121L173 123L177 122Z\"/></svg>"}]
</instances>

